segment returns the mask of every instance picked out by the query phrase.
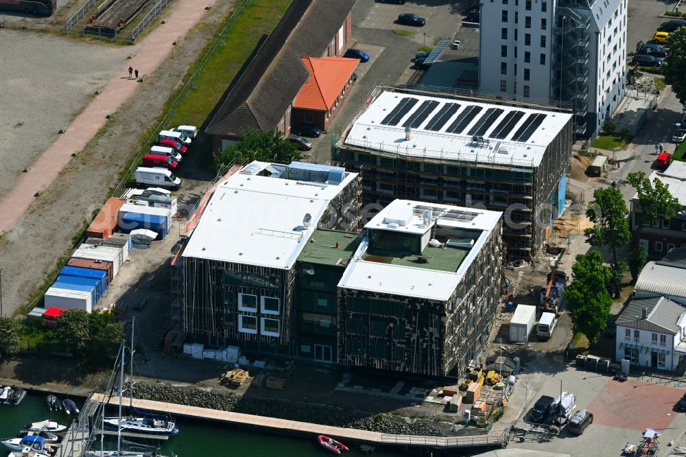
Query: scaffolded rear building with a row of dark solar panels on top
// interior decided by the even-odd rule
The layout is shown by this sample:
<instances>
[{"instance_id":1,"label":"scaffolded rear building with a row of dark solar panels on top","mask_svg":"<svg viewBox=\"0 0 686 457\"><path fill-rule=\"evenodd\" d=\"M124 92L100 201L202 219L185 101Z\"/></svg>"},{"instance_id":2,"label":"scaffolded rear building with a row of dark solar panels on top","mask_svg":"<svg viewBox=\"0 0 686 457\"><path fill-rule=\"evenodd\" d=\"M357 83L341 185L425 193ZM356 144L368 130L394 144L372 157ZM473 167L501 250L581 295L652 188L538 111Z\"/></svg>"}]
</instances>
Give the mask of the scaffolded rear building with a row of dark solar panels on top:
<instances>
[{"instance_id":1,"label":"scaffolded rear building with a row of dark solar panels on top","mask_svg":"<svg viewBox=\"0 0 686 457\"><path fill-rule=\"evenodd\" d=\"M342 129L333 161L362 174L363 202L394 198L504 211L510 257L535 257L565 208L566 107L379 86Z\"/></svg>"}]
</instances>

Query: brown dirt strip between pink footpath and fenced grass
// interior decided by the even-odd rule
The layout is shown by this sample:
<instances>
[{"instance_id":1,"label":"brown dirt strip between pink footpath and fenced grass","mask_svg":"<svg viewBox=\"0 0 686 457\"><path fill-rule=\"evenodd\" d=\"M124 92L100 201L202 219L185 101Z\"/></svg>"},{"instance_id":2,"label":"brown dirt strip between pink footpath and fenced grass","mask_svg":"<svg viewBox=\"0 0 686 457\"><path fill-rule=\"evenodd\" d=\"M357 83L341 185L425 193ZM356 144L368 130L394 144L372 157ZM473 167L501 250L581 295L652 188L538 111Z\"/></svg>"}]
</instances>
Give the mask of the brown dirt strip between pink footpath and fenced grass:
<instances>
[{"instance_id":1,"label":"brown dirt strip between pink footpath and fenced grass","mask_svg":"<svg viewBox=\"0 0 686 457\"><path fill-rule=\"evenodd\" d=\"M207 12L202 23L175 47L171 57L141 84L136 97L122 106L108 121L104 132L88 143L78 159L62 170L23 219L0 239L5 314L21 310L57 259L71 248L73 234L102 206L110 188L117 184L121 164L140 147L139 136L161 114L167 97L198 58L200 50L213 36L217 21L230 5L230 2L216 3ZM185 171L179 173L182 179L210 177L209 173L193 167L192 162L198 159L197 156L189 158L191 163L185 163Z\"/></svg>"}]
</instances>

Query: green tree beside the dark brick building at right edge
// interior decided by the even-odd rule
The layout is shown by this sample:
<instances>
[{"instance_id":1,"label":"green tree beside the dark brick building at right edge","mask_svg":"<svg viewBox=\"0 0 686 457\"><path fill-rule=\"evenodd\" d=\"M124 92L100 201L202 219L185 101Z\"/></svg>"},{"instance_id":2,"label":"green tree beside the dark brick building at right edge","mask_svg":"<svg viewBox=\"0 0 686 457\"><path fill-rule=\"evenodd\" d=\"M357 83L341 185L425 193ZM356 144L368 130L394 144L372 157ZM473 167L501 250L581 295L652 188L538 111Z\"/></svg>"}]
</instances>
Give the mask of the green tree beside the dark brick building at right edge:
<instances>
[{"instance_id":1,"label":"green tree beside the dark brick building at right edge","mask_svg":"<svg viewBox=\"0 0 686 457\"><path fill-rule=\"evenodd\" d=\"M643 172L629 173L628 183L636 189L638 207L636 223L641 226L657 218L670 220L681 210L681 203L670 193L670 185L658 178L652 182Z\"/></svg>"}]
</instances>

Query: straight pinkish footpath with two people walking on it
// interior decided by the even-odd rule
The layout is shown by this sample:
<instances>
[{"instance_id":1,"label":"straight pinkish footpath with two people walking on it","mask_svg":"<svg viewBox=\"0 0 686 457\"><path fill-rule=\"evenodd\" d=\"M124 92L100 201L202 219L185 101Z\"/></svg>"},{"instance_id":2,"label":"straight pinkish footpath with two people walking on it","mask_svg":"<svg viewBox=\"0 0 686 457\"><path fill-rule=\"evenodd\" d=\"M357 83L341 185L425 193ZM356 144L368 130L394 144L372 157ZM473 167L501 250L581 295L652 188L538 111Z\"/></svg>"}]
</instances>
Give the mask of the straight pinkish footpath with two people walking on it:
<instances>
[{"instance_id":1,"label":"straight pinkish footpath with two people walking on it","mask_svg":"<svg viewBox=\"0 0 686 457\"><path fill-rule=\"evenodd\" d=\"M76 117L69 128L21 176L16 186L0 201L0 233L12 229L34 202L36 192L51 185L71 155L80 152L95 134L105 126L106 115L117 112L121 105L137 92L138 84L128 77L128 67L138 69L140 75L152 73L171 54L174 40L183 38L205 13L206 3L200 0L178 0L164 13L166 23L158 25L137 45L132 46L134 58L123 62L121 73L115 76ZM126 115L126 113L119 113Z\"/></svg>"}]
</instances>

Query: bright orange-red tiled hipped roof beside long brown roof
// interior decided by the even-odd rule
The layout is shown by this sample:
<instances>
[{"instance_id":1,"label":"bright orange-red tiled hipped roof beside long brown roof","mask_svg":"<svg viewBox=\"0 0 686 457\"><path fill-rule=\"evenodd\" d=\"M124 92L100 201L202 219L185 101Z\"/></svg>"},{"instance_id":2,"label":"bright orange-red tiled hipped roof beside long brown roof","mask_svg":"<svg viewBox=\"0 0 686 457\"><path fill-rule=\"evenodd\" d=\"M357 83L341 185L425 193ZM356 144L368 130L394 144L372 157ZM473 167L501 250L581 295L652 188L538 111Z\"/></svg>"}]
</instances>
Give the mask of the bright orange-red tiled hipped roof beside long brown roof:
<instances>
[{"instance_id":1,"label":"bright orange-red tiled hipped roof beside long brown roof","mask_svg":"<svg viewBox=\"0 0 686 457\"><path fill-rule=\"evenodd\" d=\"M328 111L350 79L357 59L343 57L303 57L309 78L293 102L294 108Z\"/></svg>"}]
</instances>

